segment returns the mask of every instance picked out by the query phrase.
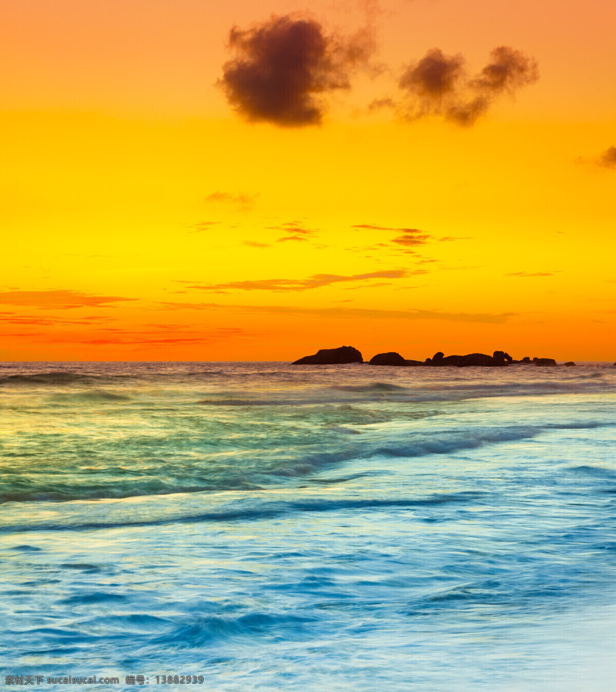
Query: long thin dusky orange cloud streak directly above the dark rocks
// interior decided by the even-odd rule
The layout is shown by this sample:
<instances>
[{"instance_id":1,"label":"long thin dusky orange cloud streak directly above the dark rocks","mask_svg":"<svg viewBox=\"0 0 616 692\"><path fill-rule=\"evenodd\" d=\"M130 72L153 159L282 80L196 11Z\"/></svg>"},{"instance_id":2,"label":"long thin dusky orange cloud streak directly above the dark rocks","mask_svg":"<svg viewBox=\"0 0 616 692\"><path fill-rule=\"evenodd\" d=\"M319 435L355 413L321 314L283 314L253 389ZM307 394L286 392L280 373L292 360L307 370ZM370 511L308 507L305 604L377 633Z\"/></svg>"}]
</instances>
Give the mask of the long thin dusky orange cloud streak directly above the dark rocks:
<instances>
[{"instance_id":1,"label":"long thin dusky orange cloud streak directly above the dark rocks","mask_svg":"<svg viewBox=\"0 0 616 692\"><path fill-rule=\"evenodd\" d=\"M380 320L446 320L449 322L484 322L502 325L514 312L490 313L439 312L437 310L369 310L362 308L325 307L306 308L286 305L221 305L219 303L161 303L167 310L233 310L238 312L266 313L285 316L310 316L322 318L355 318Z\"/></svg>"}]
</instances>

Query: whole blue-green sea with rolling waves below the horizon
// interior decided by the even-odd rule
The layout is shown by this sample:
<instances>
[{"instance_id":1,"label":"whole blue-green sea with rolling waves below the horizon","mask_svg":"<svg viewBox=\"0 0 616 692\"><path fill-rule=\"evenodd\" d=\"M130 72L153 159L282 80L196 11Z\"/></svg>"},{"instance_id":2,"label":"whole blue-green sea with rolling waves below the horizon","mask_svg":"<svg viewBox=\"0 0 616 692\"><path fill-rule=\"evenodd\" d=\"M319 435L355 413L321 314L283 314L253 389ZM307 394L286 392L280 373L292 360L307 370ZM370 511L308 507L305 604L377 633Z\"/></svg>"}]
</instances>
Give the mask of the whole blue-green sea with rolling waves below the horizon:
<instances>
[{"instance_id":1,"label":"whole blue-green sea with rolling waves below the horizon","mask_svg":"<svg viewBox=\"0 0 616 692\"><path fill-rule=\"evenodd\" d=\"M3 363L1 673L613 691L615 405L611 363Z\"/></svg>"}]
</instances>

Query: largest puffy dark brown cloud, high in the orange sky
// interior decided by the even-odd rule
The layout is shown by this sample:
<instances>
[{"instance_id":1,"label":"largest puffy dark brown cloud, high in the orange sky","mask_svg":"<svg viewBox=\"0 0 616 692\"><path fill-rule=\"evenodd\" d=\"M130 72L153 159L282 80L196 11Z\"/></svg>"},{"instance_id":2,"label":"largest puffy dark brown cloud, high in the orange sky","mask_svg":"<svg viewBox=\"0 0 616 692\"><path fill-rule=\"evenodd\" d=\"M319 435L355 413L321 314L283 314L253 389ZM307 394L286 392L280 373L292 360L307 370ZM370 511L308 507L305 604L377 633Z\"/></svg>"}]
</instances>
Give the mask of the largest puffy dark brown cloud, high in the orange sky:
<instances>
[{"instance_id":1,"label":"largest puffy dark brown cloud, high in the orange sky","mask_svg":"<svg viewBox=\"0 0 616 692\"><path fill-rule=\"evenodd\" d=\"M217 84L235 111L250 122L302 127L320 124L323 97L350 89L351 72L368 63L375 42L369 28L339 37L315 19L285 15L234 26L228 46L236 57Z\"/></svg>"}]
</instances>

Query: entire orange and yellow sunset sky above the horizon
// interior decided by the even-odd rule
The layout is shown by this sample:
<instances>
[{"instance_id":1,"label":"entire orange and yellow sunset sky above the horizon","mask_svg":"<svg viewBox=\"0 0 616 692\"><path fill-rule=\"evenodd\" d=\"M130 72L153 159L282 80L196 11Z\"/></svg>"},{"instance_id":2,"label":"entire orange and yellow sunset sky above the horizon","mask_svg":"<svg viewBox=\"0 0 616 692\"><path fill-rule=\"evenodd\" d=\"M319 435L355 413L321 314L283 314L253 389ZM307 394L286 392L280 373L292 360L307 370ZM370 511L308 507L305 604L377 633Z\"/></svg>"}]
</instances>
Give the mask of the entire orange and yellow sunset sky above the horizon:
<instances>
[{"instance_id":1,"label":"entire orange and yellow sunset sky above the horizon","mask_svg":"<svg viewBox=\"0 0 616 692\"><path fill-rule=\"evenodd\" d=\"M616 360L613 1L1 16L0 360Z\"/></svg>"}]
</instances>

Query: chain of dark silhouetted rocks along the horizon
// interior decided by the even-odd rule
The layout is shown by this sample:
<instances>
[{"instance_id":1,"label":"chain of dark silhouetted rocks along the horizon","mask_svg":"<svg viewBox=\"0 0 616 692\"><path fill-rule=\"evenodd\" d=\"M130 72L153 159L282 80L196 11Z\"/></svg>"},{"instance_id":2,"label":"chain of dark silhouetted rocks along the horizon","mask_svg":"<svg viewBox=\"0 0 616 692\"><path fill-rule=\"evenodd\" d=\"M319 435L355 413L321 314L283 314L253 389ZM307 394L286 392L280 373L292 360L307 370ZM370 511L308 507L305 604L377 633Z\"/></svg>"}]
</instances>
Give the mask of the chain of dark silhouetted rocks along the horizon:
<instances>
[{"instance_id":1,"label":"chain of dark silhouetted rocks along the horizon","mask_svg":"<svg viewBox=\"0 0 616 692\"><path fill-rule=\"evenodd\" d=\"M345 365L347 363L364 363L361 353L352 346L339 348L322 348L313 356L304 356L291 365ZM514 361L505 351L495 351L491 356L484 353L469 353L466 356L446 356L442 351L435 353L425 361L408 361L399 353L390 351L379 353L370 358L365 365L390 365L393 367L505 367L507 365L538 365L554 366L554 358L531 358L525 356L520 361ZM573 361L565 363L567 367L575 365ZM616 365L616 363L615 363Z\"/></svg>"}]
</instances>

